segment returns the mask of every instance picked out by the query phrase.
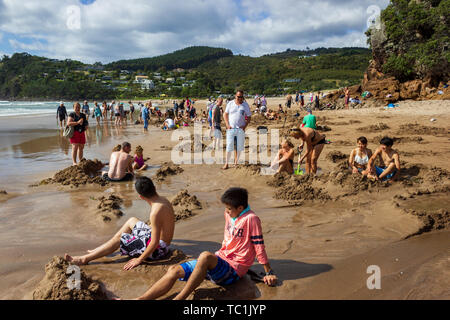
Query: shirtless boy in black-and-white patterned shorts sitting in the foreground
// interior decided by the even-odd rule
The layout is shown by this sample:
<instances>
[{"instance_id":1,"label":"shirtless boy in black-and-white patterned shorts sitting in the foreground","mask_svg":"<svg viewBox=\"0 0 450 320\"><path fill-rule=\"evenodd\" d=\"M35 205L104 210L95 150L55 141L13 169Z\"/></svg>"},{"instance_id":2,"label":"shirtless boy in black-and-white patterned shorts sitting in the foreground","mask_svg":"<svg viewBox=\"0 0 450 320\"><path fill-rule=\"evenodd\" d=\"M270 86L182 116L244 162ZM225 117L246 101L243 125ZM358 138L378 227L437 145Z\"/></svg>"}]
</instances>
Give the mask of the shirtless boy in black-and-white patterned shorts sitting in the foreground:
<instances>
[{"instance_id":1,"label":"shirtless boy in black-and-white patterned shorts sitting in the foreground","mask_svg":"<svg viewBox=\"0 0 450 320\"><path fill-rule=\"evenodd\" d=\"M145 260L158 260L169 253L175 230L175 214L172 204L156 192L148 177L136 179L135 188L140 198L151 206L151 227L137 218L130 218L109 241L84 256L70 256L64 259L72 264L85 265L90 261L105 257L118 249L122 255L133 257L124 270L131 270Z\"/></svg>"}]
</instances>

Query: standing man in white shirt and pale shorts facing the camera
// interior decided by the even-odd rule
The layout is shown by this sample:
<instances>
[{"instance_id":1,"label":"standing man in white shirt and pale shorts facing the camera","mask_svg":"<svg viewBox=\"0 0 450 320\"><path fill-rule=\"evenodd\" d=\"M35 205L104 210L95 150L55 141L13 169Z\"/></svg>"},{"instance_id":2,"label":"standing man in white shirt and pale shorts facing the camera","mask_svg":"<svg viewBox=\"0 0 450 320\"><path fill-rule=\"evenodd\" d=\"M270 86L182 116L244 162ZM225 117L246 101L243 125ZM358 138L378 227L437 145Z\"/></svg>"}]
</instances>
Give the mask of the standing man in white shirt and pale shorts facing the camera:
<instances>
[{"instance_id":1,"label":"standing man in white shirt and pale shorts facing the camera","mask_svg":"<svg viewBox=\"0 0 450 320\"><path fill-rule=\"evenodd\" d=\"M250 123L251 116L250 107L244 101L244 92L238 90L235 99L228 102L223 114L227 126L227 157L223 170L228 169L233 150L235 151L234 164L238 164L240 154L244 151L245 129Z\"/></svg>"}]
</instances>

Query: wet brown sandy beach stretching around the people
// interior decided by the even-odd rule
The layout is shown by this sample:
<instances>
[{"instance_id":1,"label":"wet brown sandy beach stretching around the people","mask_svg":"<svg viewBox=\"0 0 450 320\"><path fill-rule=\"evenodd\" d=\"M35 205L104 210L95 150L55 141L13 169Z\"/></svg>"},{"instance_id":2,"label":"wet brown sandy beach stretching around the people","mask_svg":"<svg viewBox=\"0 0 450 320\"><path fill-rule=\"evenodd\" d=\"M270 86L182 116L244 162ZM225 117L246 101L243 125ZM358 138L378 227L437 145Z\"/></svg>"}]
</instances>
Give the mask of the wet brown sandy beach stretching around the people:
<instances>
[{"instance_id":1,"label":"wet brown sandy beach stretching around the people","mask_svg":"<svg viewBox=\"0 0 450 320\"><path fill-rule=\"evenodd\" d=\"M250 102L250 101L249 101ZM249 103L251 105L251 102ZM284 98L269 98L269 108ZM331 144L325 146L316 178L298 177L281 183L262 175L259 167L182 164L181 173L158 181L158 192L173 198L181 190L195 195L201 208L176 222L173 248L164 261L123 271L123 257L107 257L83 266L98 280L108 298L134 298L155 283L173 264L215 252L223 239L220 196L229 187L246 188L250 206L261 218L266 250L279 283L268 287L249 276L229 287L207 281L192 299L449 299L450 298L450 101L400 101L393 109L361 108L314 111ZM197 112L206 101L197 101ZM286 121L255 117L250 128L264 125L286 129L299 124L294 105ZM301 112L304 116L305 112ZM436 119L430 121L430 119ZM45 265L65 252L82 254L109 239L127 219L148 220L149 207L139 199L133 182L74 187L41 184L71 165L70 145L56 129L53 116L23 120L0 119L0 299L32 299L45 276ZM189 130L193 131L190 127ZM207 135L207 125L203 134ZM108 162L114 145L141 145L153 178L172 159L173 132L152 124L116 128L91 124L86 159ZM374 151L381 137L395 138L402 165L401 181L371 183L342 174L342 161L366 136ZM293 140L295 145L299 141ZM206 146L212 142L203 141ZM249 150L246 149L246 159ZM105 218L102 196L122 199L122 215ZM381 270L381 289L369 290L367 268ZM252 270L262 271L255 263ZM177 282L163 298L171 298Z\"/></svg>"}]
</instances>

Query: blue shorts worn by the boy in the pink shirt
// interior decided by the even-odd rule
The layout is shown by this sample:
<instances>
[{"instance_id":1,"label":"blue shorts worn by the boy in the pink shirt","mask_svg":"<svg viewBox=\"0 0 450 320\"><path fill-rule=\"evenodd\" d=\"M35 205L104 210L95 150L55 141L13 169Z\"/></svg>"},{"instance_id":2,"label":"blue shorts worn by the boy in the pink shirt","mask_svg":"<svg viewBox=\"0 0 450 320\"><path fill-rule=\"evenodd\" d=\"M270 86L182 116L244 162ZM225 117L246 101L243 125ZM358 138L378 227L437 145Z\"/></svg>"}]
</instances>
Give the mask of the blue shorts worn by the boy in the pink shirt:
<instances>
[{"instance_id":1,"label":"blue shorts worn by the boy in the pink shirt","mask_svg":"<svg viewBox=\"0 0 450 320\"><path fill-rule=\"evenodd\" d=\"M206 273L206 279L211 280L213 283L218 285L228 285L238 281L240 279L239 276L228 264L228 262L218 256L216 257L217 266L212 270L208 270ZM184 270L184 278L181 278L180 281L188 281L196 264L197 260L191 260L181 264L181 267Z\"/></svg>"}]
</instances>

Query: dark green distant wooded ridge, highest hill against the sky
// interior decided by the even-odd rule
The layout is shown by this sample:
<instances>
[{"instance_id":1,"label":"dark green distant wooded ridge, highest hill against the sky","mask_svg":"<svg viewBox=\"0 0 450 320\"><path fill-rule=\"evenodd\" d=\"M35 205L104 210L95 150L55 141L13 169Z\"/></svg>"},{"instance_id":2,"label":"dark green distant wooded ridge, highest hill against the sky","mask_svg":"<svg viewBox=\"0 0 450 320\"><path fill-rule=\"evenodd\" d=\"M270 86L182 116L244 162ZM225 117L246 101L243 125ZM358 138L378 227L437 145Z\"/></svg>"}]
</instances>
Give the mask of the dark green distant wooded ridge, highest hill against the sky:
<instances>
[{"instance_id":1,"label":"dark green distant wooded ridge, highest hill against the sky","mask_svg":"<svg viewBox=\"0 0 450 320\"><path fill-rule=\"evenodd\" d=\"M232 56L228 49L211 47L188 47L175 52L153 57L132 60L120 60L106 65L108 69L122 69L132 71L156 71L160 68L172 70L176 68L192 69L204 62Z\"/></svg>"}]
</instances>

